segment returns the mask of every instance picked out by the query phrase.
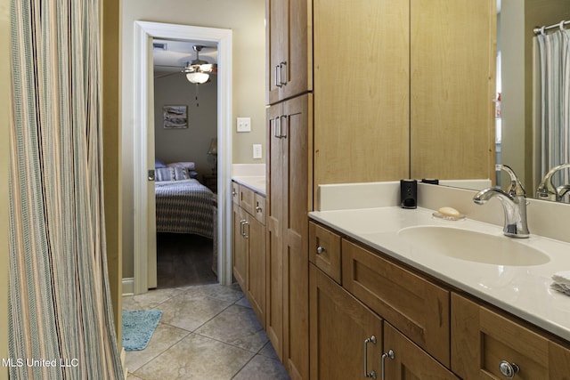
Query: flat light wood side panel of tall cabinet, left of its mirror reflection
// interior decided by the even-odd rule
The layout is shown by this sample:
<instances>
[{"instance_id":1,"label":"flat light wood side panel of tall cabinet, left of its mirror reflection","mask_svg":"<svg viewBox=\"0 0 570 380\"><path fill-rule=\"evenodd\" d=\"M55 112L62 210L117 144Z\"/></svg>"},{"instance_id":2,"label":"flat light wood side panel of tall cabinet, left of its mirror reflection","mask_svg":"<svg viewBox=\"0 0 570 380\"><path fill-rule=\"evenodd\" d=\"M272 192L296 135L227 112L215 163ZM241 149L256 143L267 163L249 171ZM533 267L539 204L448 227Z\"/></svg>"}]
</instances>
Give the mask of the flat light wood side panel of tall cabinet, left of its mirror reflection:
<instances>
[{"instance_id":1,"label":"flat light wood side panel of tall cabinet, left of its mirror reflection","mask_svg":"<svg viewBox=\"0 0 570 380\"><path fill-rule=\"evenodd\" d=\"M408 1L314 0L314 195L409 177Z\"/></svg>"}]
</instances>

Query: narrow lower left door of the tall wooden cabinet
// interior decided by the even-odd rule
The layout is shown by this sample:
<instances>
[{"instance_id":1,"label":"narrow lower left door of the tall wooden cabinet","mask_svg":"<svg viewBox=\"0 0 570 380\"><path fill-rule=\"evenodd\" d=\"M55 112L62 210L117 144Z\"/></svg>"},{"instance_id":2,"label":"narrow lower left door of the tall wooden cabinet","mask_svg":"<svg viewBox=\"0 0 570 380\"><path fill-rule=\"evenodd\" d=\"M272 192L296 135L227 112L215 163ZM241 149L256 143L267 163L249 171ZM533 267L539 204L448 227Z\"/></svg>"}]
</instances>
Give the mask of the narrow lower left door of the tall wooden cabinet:
<instances>
[{"instance_id":1,"label":"narrow lower left door of the tall wooden cabinet","mask_svg":"<svg viewBox=\"0 0 570 380\"><path fill-rule=\"evenodd\" d=\"M277 124L282 114L281 104L267 109L267 228L266 254L266 326L273 348L282 360L283 336L283 144ZM277 121L276 121L277 120ZM277 132L276 132L277 131Z\"/></svg>"}]
</instances>

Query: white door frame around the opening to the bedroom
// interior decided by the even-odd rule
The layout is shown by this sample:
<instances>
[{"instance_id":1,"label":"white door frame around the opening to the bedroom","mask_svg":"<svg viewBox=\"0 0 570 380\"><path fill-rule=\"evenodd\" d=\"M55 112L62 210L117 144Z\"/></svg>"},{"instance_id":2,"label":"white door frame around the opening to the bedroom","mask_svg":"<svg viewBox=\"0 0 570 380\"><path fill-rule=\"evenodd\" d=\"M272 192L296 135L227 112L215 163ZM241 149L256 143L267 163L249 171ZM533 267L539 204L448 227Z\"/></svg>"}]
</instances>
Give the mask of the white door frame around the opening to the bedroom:
<instances>
[{"instance_id":1,"label":"white door frame around the opening to the bedroom","mask_svg":"<svg viewBox=\"0 0 570 380\"><path fill-rule=\"evenodd\" d=\"M134 21L134 294L148 291L150 261L156 257L150 255L147 247L149 233L156 233L149 227L150 218L154 222L154 207L149 207L148 170L151 141L149 131L154 130L152 109L154 99L150 99L152 85L152 39L200 40L217 44L217 136L218 136L218 171L217 171L217 250L218 281L222 285L232 283L232 260L230 253L232 231L232 199L229 191L232 167L232 30L222 28L203 28L179 24L166 24L149 21ZM152 153L154 155L154 153ZM155 250L156 252L156 250Z\"/></svg>"}]
</instances>

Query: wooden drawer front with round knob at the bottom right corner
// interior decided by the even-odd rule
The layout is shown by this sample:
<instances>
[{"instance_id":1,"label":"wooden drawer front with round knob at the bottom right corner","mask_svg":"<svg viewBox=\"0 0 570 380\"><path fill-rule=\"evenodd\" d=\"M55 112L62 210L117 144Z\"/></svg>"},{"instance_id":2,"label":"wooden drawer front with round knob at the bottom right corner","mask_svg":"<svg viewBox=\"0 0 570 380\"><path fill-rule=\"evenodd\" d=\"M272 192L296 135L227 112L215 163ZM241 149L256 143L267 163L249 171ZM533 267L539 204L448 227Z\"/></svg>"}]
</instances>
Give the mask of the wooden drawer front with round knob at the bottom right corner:
<instances>
[{"instance_id":1,"label":"wooden drawer front with round knob at the bottom right corner","mask_svg":"<svg viewBox=\"0 0 570 380\"><path fill-rule=\"evenodd\" d=\"M501 379L501 362L520 368L514 378L562 379L570 350L485 306L452 294L452 371L465 379Z\"/></svg>"}]
</instances>

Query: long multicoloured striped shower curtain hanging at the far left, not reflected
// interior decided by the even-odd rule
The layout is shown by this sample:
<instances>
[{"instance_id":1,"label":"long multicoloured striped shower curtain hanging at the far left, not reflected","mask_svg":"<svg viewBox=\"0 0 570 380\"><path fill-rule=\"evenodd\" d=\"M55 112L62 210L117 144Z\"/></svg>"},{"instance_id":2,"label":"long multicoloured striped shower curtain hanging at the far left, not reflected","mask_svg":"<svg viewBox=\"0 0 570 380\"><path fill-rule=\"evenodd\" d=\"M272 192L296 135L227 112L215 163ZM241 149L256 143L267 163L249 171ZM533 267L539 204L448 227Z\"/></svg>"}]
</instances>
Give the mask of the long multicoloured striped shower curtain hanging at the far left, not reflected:
<instances>
[{"instance_id":1,"label":"long multicoloured striped shower curtain hanging at the far left, not reflected","mask_svg":"<svg viewBox=\"0 0 570 380\"><path fill-rule=\"evenodd\" d=\"M13 379L123 378L102 199L98 0L12 0Z\"/></svg>"}]
</instances>

